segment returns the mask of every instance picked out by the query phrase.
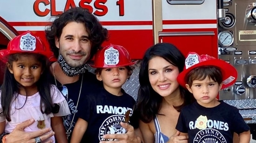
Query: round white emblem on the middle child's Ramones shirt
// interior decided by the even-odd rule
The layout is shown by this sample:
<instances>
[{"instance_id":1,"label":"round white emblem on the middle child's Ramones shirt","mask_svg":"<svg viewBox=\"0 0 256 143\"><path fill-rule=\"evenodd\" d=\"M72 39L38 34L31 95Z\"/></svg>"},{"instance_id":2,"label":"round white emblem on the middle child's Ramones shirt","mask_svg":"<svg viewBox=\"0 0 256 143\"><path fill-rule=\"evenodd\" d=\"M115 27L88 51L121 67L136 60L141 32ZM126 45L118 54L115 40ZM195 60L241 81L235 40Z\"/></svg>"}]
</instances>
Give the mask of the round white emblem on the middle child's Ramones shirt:
<instances>
[{"instance_id":1,"label":"round white emblem on the middle child's Ramones shirt","mask_svg":"<svg viewBox=\"0 0 256 143\"><path fill-rule=\"evenodd\" d=\"M124 121L124 115L113 115L108 117L100 126L99 129L99 139L104 141L102 138L105 134L124 134L126 129L123 128L120 124L121 121ZM108 139L107 141L115 141L115 139Z\"/></svg>"}]
</instances>

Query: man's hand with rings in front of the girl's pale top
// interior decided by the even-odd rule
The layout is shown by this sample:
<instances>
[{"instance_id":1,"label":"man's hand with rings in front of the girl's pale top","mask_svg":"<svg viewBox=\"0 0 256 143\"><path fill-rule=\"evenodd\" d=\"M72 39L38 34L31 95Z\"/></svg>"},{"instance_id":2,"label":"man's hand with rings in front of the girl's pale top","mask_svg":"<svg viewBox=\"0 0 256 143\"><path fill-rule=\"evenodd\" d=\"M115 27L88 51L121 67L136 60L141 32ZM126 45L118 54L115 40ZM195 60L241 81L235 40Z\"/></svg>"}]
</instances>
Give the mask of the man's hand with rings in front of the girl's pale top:
<instances>
[{"instance_id":1,"label":"man's hand with rings in front of the girl's pale top","mask_svg":"<svg viewBox=\"0 0 256 143\"><path fill-rule=\"evenodd\" d=\"M24 129L33 123L34 119L30 119L18 124L10 134L6 135L5 143L35 143L35 137L40 137L40 140L44 141L55 134L49 128L40 131L25 132ZM53 141L51 140L47 141L46 143L52 142Z\"/></svg>"}]
</instances>

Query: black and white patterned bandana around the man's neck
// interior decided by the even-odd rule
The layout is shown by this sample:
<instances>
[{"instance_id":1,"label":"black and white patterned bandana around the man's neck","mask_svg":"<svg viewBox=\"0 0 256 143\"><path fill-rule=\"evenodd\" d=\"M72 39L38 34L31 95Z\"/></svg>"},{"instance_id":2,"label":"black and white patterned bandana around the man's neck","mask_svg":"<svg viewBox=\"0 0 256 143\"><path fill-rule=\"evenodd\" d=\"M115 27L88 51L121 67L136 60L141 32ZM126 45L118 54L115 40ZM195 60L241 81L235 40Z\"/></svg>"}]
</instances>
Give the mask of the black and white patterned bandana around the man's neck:
<instances>
[{"instance_id":1,"label":"black and white patterned bandana around the man's neck","mask_svg":"<svg viewBox=\"0 0 256 143\"><path fill-rule=\"evenodd\" d=\"M76 76L76 75L80 75L86 72L86 64L83 64L81 67L71 67L67 64L67 62L64 60L63 56L60 55L58 57L58 61L57 61L60 66L61 69L63 71L63 73L65 73L67 76Z\"/></svg>"}]
</instances>

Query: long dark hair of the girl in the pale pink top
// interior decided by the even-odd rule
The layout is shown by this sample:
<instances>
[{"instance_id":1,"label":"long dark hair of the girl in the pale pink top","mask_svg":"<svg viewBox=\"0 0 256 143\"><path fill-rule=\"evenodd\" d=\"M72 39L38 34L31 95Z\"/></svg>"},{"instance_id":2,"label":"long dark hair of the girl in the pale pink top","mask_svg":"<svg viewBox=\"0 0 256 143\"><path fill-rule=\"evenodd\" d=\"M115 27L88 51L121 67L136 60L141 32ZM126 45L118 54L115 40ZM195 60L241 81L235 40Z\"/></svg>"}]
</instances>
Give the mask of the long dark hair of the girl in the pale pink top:
<instances>
[{"instance_id":1,"label":"long dark hair of the girl in the pale pink top","mask_svg":"<svg viewBox=\"0 0 256 143\"><path fill-rule=\"evenodd\" d=\"M10 67L12 67L13 62L18 61L21 56L30 56L30 55L33 55L36 58L36 60L38 60L42 64L43 73L40 75L40 79L36 82L37 89L40 94L41 112L49 114L52 111L55 111L53 113L57 113L59 111L56 112L55 108L58 108L58 106L53 105L53 102L51 99L51 93L50 93L51 84L49 81L50 80L50 74L49 74L50 64L47 57L40 54L34 54L34 53L17 53L17 54L12 54L8 56L8 63L10 64ZM13 74L11 74L8 68L6 68L3 85L0 87L1 106L3 108L3 112L0 113L0 116L6 116L7 121L11 121L10 107L13 102L13 99L16 99L18 97L20 87L21 87L20 83L14 79Z\"/></svg>"}]
</instances>

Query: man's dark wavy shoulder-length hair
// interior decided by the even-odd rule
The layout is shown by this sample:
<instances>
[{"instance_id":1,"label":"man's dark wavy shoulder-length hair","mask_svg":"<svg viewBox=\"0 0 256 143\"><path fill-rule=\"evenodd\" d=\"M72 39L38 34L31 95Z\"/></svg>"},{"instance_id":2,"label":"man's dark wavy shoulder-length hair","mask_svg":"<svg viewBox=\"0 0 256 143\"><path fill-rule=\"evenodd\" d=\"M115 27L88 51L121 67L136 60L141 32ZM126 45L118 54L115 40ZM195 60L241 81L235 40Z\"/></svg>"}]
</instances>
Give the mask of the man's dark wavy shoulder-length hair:
<instances>
[{"instance_id":1,"label":"man's dark wavy shoulder-length hair","mask_svg":"<svg viewBox=\"0 0 256 143\"><path fill-rule=\"evenodd\" d=\"M81 7L73 7L63 12L54 20L52 25L46 28L46 38L50 45L54 56L59 56L59 49L55 45L55 37L60 38L63 28L70 22L83 23L89 34L89 40L92 42L90 59L101 44L108 39L108 30L103 28L99 20L87 9Z\"/></svg>"}]
</instances>

